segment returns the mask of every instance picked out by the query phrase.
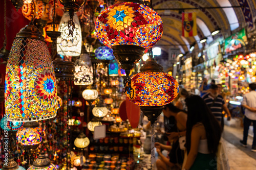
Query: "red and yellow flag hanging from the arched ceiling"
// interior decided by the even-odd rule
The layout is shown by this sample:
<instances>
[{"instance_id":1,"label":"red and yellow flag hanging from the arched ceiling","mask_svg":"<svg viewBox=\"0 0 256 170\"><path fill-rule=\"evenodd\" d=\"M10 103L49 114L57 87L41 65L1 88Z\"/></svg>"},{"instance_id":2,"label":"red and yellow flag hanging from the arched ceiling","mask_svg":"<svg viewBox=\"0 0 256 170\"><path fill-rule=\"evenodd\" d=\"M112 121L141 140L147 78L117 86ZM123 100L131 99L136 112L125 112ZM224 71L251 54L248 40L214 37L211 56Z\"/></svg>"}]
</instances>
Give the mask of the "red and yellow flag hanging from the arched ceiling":
<instances>
[{"instance_id":1,"label":"red and yellow flag hanging from the arched ceiling","mask_svg":"<svg viewBox=\"0 0 256 170\"><path fill-rule=\"evenodd\" d=\"M182 36L193 37L197 35L196 12L182 13Z\"/></svg>"}]
</instances>

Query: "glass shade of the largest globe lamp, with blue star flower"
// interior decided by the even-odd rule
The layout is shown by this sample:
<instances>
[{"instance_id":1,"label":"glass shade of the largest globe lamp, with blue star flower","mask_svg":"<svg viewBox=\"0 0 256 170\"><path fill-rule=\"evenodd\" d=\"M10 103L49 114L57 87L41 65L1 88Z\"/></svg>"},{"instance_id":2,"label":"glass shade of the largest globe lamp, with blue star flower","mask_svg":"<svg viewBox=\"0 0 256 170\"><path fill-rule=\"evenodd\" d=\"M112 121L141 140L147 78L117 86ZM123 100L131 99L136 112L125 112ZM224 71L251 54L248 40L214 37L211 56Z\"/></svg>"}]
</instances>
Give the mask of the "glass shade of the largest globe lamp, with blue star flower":
<instances>
[{"instance_id":1,"label":"glass shade of the largest globe lamp, with blue star flower","mask_svg":"<svg viewBox=\"0 0 256 170\"><path fill-rule=\"evenodd\" d=\"M138 3L117 3L104 9L96 19L96 34L106 46L137 45L146 49L163 34L161 17Z\"/></svg>"}]
</instances>

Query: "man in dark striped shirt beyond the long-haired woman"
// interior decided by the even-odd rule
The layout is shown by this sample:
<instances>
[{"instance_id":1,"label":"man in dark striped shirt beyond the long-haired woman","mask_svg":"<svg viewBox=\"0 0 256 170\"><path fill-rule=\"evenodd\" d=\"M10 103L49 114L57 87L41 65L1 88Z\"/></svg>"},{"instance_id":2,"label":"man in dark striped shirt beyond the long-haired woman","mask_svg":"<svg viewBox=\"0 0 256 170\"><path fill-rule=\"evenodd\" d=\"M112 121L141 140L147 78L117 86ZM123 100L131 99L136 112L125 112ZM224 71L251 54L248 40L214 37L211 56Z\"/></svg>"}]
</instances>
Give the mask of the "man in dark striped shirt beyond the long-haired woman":
<instances>
[{"instance_id":1,"label":"man in dark striped shirt beyond the long-haired woman","mask_svg":"<svg viewBox=\"0 0 256 170\"><path fill-rule=\"evenodd\" d=\"M223 121L223 114L222 110L231 117L231 114L224 102L224 99L220 94L218 94L218 86L215 84L211 85L210 91L203 95L203 100L205 101L206 105L210 108L211 113L215 115L216 119L220 122Z\"/></svg>"}]
</instances>

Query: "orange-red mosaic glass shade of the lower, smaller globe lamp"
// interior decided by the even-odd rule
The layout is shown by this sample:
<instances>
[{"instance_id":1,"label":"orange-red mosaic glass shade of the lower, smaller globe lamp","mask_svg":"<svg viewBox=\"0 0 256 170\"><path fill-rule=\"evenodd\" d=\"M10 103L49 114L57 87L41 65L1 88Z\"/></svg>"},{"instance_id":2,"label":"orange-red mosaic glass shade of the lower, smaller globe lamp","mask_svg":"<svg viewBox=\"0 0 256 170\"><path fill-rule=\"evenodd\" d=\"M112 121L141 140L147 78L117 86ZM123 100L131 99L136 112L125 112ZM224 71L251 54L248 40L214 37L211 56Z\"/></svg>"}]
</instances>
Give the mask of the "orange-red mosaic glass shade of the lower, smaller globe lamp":
<instances>
[{"instance_id":1,"label":"orange-red mosaic glass shade of the lower, smaller globe lamp","mask_svg":"<svg viewBox=\"0 0 256 170\"><path fill-rule=\"evenodd\" d=\"M132 78L134 98L129 100L139 106L163 106L172 102L179 93L178 82L164 72L140 72Z\"/></svg>"}]
</instances>

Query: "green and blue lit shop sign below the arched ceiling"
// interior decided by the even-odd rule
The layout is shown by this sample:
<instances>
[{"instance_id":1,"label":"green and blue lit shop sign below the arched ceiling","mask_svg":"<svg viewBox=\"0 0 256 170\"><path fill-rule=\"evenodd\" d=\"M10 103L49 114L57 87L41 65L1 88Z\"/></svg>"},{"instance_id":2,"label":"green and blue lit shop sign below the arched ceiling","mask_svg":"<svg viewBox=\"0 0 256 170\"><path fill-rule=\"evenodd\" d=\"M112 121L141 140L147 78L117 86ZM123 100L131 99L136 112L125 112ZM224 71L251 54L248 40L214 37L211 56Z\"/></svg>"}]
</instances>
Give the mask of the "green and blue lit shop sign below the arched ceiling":
<instances>
[{"instance_id":1,"label":"green and blue lit shop sign below the arched ceiling","mask_svg":"<svg viewBox=\"0 0 256 170\"><path fill-rule=\"evenodd\" d=\"M247 37L245 34L245 29L238 33L232 34L230 37L225 39L225 52L230 53L238 48L241 48L247 42Z\"/></svg>"}]
</instances>

